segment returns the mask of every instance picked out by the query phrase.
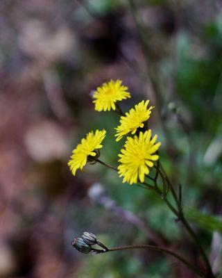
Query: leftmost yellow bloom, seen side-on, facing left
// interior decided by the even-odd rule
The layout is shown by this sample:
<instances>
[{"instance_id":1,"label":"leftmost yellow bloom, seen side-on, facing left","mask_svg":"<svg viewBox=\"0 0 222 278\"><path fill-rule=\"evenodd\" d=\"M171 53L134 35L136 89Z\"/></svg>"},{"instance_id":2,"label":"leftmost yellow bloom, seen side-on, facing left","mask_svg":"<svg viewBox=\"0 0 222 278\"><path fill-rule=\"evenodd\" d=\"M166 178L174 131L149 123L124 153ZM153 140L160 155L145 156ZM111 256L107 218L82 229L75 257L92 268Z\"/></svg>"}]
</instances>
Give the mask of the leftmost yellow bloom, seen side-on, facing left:
<instances>
[{"instance_id":1,"label":"leftmost yellow bloom, seen side-on, facing left","mask_svg":"<svg viewBox=\"0 0 222 278\"><path fill-rule=\"evenodd\" d=\"M104 129L103 131L99 131L97 129L95 133L90 131L87 133L86 138L83 138L80 144L76 146L76 149L72 151L68 165L74 176L76 175L77 169L83 170L83 167L87 163L87 159L89 159L90 156L91 158L96 156L95 150L103 147L101 142L105 138L105 133L106 131Z\"/></svg>"}]
</instances>

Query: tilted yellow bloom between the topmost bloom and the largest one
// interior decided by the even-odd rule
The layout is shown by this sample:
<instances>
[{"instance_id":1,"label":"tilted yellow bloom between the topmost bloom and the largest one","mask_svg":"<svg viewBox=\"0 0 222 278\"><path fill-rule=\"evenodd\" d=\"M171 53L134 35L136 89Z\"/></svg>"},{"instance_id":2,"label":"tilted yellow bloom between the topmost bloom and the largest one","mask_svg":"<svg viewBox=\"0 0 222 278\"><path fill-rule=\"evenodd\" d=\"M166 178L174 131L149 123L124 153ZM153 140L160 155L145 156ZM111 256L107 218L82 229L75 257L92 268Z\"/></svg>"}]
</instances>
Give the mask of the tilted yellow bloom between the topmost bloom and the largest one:
<instances>
[{"instance_id":1,"label":"tilted yellow bloom between the topmost bloom and the largest one","mask_svg":"<svg viewBox=\"0 0 222 278\"><path fill-rule=\"evenodd\" d=\"M120 125L117 126L117 141L121 140L121 138L128 134L135 134L139 127L144 127L144 122L148 120L151 115L151 110L154 106L147 108L149 100L146 102L143 100L139 102L139 104L135 105L135 108L131 108L126 116L120 117Z\"/></svg>"}]
</instances>

